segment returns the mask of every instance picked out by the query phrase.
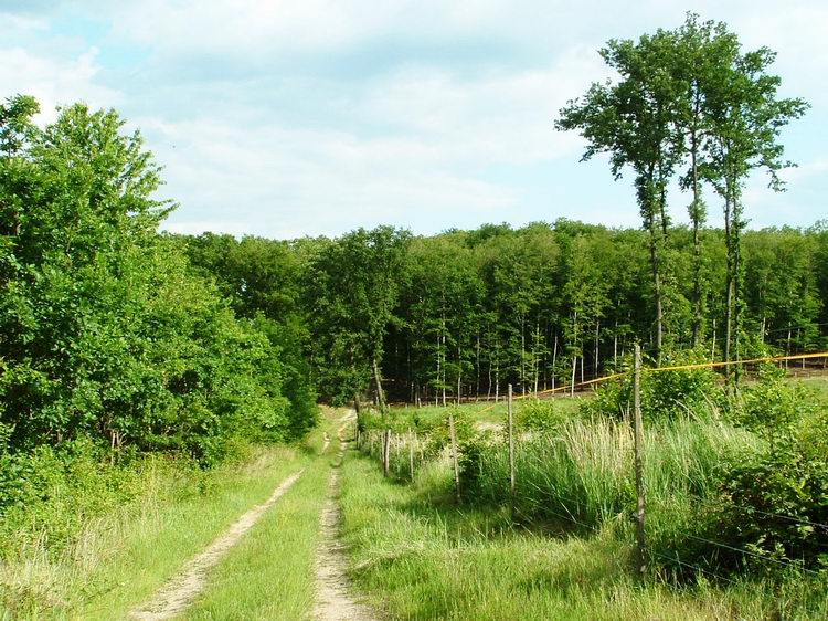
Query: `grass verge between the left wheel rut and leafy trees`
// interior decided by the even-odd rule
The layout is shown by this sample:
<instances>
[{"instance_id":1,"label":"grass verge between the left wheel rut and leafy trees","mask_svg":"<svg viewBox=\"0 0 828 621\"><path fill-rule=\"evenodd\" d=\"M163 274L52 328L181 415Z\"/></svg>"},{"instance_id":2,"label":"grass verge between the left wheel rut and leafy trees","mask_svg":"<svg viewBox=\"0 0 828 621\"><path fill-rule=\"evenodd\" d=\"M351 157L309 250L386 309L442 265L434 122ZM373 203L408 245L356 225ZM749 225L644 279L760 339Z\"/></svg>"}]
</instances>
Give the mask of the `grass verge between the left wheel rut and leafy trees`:
<instances>
[{"instance_id":1,"label":"grass verge between the left wheel rut and leafy trees","mask_svg":"<svg viewBox=\"0 0 828 621\"><path fill-rule=\"evenodd\" d=\"M124 618L242 513L264 502L321 444L263 446L247 459L201 472L147 462L140 494L83 520L65 547L50 550L36 533L0 561L0 619Z\"/></svg>"}]
</instances>

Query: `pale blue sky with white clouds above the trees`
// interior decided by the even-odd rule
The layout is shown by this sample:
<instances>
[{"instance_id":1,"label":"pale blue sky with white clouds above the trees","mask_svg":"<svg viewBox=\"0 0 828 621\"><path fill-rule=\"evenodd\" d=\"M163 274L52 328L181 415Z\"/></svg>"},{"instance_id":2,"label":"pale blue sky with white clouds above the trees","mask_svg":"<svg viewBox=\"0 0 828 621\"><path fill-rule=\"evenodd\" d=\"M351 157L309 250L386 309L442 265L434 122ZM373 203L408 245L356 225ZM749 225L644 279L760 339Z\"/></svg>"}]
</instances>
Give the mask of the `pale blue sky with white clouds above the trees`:
<instances>
[{"instance_id":1,"label":"pale blue sky with white clouds above the trees","mask_svg":"<svg viewBox=\"0 0 828 621\"><path fill-rule=\"evenodd\" d=\"M688 9L777 51L783 94L813 106L783 135L788 191L751 180L752 225L828 218L825 0L0 0L0 97L36 96L42 122L78 99L119 110L166 167L173 231L637 225L631 180L580 164L553 120L608 75L604 42Z\"/></svg>"}]
</instances>

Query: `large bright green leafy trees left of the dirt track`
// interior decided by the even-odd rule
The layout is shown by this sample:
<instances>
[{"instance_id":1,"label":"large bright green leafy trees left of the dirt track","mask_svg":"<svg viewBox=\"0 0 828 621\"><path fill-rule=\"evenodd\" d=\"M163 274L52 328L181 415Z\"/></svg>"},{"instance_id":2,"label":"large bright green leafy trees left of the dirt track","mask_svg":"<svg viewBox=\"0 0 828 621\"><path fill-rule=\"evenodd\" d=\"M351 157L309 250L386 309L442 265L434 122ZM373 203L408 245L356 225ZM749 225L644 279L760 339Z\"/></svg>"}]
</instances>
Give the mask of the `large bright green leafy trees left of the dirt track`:
<instances>
[{"instance_id":1,"label":"large bright green leafy trees left of the dirt track","mask_svg":"<svg viewBox=\"0 0 828 621\"><path fill-rule=\"evenodd\" d=\"M289 339L237 319L157 233L171 206L153 198L159 168L140 135L81 104L40 129L35 109L17 97L0 110L6 450L89 439L213 464L235 438L312 424L299 355L280 355Z\"/></svg>"}]
</instances>

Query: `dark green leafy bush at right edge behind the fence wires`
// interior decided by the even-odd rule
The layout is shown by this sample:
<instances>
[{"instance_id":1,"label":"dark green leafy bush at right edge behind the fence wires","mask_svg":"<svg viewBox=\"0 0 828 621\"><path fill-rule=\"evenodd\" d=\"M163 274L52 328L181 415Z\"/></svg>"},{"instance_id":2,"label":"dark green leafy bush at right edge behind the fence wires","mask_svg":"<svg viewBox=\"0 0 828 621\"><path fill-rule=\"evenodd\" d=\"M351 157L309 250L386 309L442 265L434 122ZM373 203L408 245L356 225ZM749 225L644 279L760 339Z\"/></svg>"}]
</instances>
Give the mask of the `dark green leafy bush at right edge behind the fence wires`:
<instances>
[{"instance_id":1,"label":"dark green leafy bush at right edge behind the fence wires","mask_svg":"<svg viewBox=\"0 0 828 621\"><path fill-rule=\"evenodd\" d=\"M828 413L817 396L769 367L743 390L733 417L766 444L722 465L718 536L761 557L828 568ZM731 567L749 562L779 572L776 564L733 550L708 550L713 552Z\"/></svg>"}]
</instances>

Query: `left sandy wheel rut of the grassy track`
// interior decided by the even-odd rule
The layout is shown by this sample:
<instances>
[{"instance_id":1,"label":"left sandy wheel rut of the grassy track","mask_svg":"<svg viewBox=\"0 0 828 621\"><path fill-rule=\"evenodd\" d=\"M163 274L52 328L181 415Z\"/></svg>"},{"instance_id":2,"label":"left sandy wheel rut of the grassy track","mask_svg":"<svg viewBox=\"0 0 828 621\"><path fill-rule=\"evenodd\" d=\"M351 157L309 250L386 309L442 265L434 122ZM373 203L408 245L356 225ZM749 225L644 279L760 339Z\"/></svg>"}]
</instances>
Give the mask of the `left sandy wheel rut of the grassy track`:
<instances>
[{"instance_id":1,"label":"left sandy wheel rut of the grassy track","mask_svg":"<svg viewBox=\"0 0 828 621\"><path fill-rule=\"evenodd\" d=\"M287 492L299 478L304 469L285 478L261 505L242 515L221 537L184 565L181 572L163 585L140 608L132 610L129 618L136 621L161 621L172 619L183 612L204 589L206 572L238 543L247 530Z\"/></svg>"}]
</instances>

